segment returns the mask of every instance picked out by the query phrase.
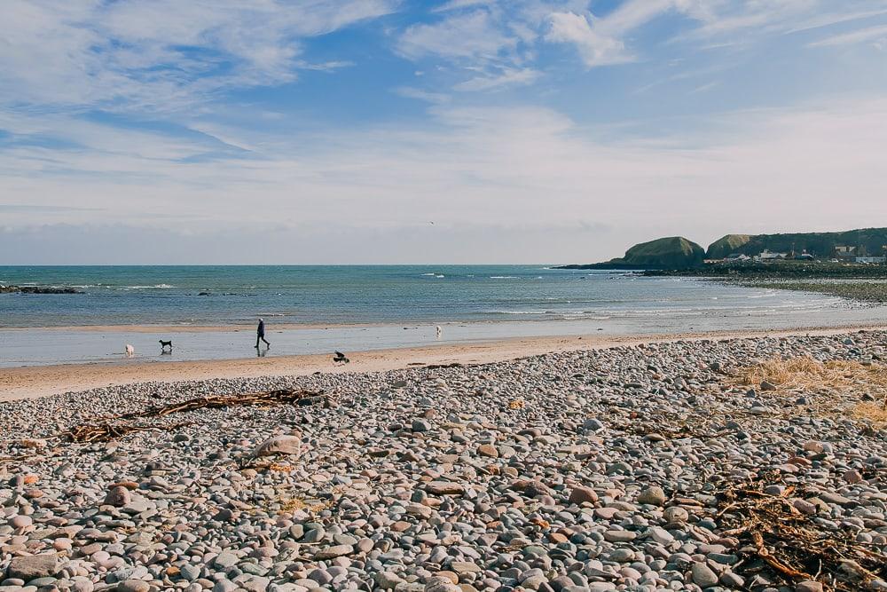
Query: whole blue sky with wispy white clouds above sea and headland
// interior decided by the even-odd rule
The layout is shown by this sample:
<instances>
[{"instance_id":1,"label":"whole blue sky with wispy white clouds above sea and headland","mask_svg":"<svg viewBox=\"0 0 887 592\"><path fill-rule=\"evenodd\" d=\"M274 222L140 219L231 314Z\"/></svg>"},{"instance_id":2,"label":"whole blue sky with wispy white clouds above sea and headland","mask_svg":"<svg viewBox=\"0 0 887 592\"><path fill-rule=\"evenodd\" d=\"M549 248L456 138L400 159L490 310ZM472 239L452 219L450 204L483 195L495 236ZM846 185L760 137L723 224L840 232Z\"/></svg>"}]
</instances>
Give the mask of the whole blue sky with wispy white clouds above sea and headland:
<instances>
[{"instance_id":1,"label":"whole blue sky with wispy white clouds above sea and headland","mask_svg":"<svg viewBox=\"0 0 887 592\"><path fill-rule=\"evenodd\" d=\"M887 0L4 0L0 264L887 225Z\"/></svg>"}]
</instances>

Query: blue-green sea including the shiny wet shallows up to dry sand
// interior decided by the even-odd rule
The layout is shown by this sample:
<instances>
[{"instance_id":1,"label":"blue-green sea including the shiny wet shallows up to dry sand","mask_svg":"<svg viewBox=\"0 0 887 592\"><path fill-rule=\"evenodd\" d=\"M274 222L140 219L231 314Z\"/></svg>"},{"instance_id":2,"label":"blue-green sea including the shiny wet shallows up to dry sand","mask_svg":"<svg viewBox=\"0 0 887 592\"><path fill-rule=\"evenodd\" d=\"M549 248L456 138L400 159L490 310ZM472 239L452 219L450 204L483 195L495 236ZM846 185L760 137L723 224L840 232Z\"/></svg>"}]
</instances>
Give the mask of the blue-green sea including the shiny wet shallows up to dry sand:
<instances>
[{"instance_id":1,"label":"blue-green sea including the shiny wet shallows up to dry sand","mask_svg":"<svg viewBox=\"0 0 887 592\"><path fill-rule=\"evenodd\" d=\"M541 335L640 335L848 326L884 307L634 272L546 265L0 266L0 367L410 347ZM436 334L436 327L443 335ZM156 328L154 330L153 328Z\"/></svg>"}]
</instances>

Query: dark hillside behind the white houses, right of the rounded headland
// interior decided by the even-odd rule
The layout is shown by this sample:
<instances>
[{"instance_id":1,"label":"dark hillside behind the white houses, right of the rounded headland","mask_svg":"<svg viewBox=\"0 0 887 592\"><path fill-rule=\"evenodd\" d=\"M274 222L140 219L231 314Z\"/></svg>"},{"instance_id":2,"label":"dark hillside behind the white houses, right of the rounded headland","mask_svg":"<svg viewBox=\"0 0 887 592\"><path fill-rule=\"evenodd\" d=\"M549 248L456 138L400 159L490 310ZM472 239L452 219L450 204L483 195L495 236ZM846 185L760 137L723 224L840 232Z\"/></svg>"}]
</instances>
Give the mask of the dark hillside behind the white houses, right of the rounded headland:
<instances>
[{"instance_id":1,"label":"dark hillside behind the white houses, right of the rounded headland","mask_svg":"<svg viewBox=\"0 0 887 592\"><path fill-rule=\"evenodd\" d=\"M801 253L832 257L837 247L853 247L861 256L883 255L887 228L864 228L844 233L727 234L710 244L707 257L721 259L731 254L754 256L767 249L775 253Z\"/></svg>"}]
</instances>

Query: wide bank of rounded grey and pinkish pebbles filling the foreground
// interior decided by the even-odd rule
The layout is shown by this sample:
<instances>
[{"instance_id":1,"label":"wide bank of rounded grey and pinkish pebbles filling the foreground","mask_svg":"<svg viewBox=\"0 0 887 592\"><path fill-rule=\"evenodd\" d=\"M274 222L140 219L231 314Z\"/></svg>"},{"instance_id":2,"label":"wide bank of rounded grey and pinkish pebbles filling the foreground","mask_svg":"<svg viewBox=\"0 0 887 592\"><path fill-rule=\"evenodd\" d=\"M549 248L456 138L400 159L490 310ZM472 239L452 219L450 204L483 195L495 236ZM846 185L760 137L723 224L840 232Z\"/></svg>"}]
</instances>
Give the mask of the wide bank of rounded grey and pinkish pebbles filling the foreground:
<instances>
[{"instance_id":1,"label":"wide bank of rounded grey and pinkish pebbles filling the foreground","mask_svg":"<svg viewBox=\"0 0 887 592\"><path fill-rule=\"evenodd\" d=\"M7 403L0 589L887 589L871 561L847 556L887 552L885 431L851 414L872 391L835 399L731 377L774 357L876 367L885 343L670 343ZM158 403L282 387L334 403L202 409L106 444L53 438ZM764 556L788 561L785 549L756 549L736 528L743 504L773 500L786 532L851 546L810 572L820 582L781 572Z\"/></svg>"}]
</instances>

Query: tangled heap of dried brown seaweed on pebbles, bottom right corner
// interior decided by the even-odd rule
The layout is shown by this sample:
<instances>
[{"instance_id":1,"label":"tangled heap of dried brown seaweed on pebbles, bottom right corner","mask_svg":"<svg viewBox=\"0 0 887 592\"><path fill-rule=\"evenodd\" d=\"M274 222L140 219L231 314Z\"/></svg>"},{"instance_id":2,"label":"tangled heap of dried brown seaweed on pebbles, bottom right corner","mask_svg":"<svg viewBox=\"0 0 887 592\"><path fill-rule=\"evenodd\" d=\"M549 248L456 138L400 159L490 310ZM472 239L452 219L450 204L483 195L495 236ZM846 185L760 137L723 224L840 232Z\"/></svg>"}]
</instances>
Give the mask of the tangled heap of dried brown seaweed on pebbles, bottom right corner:
<instances>
[{"instance_id":1,"label":"tangled heap of dried brown seaweed on pebbles, bottom right corner","mask_svg":"<svg viewBox=\"0 0 887 592\"><path fill-rule=\"evenodd\" d=\"M778 482L768 475L756 482L721 493L715 519L723 536L737 537L740 553L757 559L743 564L738 573L752 577L765 564L769 575L786 584L819 581L825 589L852 592L877 578L887 577L887 556L851 533L828 530L792 505L793 486L781 494L764 492L765 484Z\"/></svg>"}]
</instances>

